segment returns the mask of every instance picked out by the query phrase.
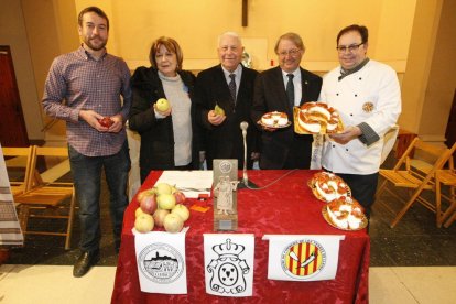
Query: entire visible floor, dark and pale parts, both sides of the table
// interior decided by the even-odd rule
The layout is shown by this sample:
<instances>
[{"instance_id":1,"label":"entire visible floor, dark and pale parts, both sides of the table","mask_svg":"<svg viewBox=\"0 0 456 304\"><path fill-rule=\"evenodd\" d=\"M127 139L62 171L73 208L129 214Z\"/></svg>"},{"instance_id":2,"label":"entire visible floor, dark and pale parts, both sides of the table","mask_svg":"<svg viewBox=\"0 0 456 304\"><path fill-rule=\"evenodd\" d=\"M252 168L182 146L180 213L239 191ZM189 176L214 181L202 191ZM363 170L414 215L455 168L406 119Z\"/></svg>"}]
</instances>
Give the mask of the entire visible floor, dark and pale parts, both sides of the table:
<instances>
[{"instance_id":1,"label":"entire visible floor, dark and pale parts, both sides of the table","mask_svg":"<svg viewBox=\"0 0 456 304\"><path fill-rule=\"evenodd\" d=\"M107 197L106 185L101 196ZM25 296L33 290L34 303L108 303L117 256L106 204L101 207L99 267L83 279L72 276L70 265L78 256L77 220L74 249L69 251L64 250L63 238L28 236L26 246L13 249L7 264L0 268L0 302L28 303ZM389 225L393 214L384 204L399 209L389 196L373 207L369 230L370 303L456 303L456 224L436 228L435 215L416 204L392 229Z\"/></svg>"}]
</instances>

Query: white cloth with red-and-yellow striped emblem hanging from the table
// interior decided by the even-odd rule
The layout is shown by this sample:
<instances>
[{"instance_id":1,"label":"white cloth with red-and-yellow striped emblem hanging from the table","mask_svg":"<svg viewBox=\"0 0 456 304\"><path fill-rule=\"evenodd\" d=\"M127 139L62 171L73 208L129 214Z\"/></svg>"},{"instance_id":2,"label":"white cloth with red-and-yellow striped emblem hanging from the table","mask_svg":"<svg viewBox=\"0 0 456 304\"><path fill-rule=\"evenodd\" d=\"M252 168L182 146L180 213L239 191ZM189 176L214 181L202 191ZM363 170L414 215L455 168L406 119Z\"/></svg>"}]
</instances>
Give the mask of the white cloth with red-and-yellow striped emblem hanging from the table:
<instances>
[{"instance_id":1,"label":"white cloth with red-and-yellow striped emblem hanging from the table","mask_svg":"<svg viewBox=\"0 0 456 304\"><path fill-rule=\"evenodd\" d=\"M336 278L345 236L264 235L269 240L268 279L323 281Z\"/></svg>"}]
</instances>

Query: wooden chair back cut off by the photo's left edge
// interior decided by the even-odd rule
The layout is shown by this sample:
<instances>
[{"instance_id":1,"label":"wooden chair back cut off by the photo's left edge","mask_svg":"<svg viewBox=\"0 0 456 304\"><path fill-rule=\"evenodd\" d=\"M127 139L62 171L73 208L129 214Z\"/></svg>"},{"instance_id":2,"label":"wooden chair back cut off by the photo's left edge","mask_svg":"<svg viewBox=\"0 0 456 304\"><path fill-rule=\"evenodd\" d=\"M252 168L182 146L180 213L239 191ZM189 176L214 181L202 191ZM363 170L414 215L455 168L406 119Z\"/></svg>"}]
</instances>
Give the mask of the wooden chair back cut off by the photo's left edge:
<instances>
[{"instance_id":1,"label":"wooden chair back cut off by the photo's left edge","mask_svg":"<svg viewBox=\"0 0 456 304\"><path fill-rule=\"evenodd\" d=\"M3 146L7 171L10 177L11 194L17 196L24 193L29 184L33 146L9 148Z\"/></svg>"}]
</instances>

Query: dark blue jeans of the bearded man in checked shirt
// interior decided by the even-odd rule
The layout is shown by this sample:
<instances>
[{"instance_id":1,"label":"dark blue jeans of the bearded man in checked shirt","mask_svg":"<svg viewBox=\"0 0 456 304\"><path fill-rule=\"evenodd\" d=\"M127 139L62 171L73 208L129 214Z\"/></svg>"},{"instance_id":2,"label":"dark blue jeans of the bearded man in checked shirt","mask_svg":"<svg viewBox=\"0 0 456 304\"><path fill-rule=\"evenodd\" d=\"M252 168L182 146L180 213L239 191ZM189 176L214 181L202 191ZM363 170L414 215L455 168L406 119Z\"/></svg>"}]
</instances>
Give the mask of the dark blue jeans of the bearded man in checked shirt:
<instances>
[{"instance_id":1,"label":"dark blue jeans of the bearded man in checked shirt","mask_svg":"<svg viewBox=\"0 0 456 304\"><path fill-rule=\"evenodd\" d=\"M130 171L128 142L117 154L109 156L86 156L68 145L69 163L79 202L82 251L93 252L99 249L100 229L100 189L101 169L105 167L110 199L109 210L112 221L116 247L120 245L123 211L128 205L127 183Z\"/></svg>"}]
</instances>

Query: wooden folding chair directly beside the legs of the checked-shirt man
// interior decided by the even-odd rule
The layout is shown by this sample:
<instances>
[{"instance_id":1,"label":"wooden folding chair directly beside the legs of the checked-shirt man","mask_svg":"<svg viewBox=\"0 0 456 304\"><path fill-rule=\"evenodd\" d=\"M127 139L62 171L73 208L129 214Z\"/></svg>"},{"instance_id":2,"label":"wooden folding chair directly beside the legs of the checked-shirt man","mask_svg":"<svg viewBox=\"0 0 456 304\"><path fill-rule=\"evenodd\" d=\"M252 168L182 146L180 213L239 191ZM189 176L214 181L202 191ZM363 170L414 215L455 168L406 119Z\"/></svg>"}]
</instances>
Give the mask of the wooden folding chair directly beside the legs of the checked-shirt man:
<instances>
[{"instance_id":1,"label":"wooden folding chair directly beside the legs of the checked-shirt man","mask_svg":"<svg viewBox=\"0 0 456 304\"><path fill-rule=\"evenodd\" d=\"M47 165L42 172L39 167L39 158L58 160L56 165ZM62 159L68 159L67 148L34 146L28 191L15 197L20 203L19 217L24 235L64 236L65 249L70 248L72 228L75 214L75 188L73 183L46 181L45 174L62 165ZM48 167L51 166L51 169ZM62 174L61 174L62 175ZM69 200L69 205L67 203ZM66 219L65 231L29 229L29 218ZM54 225L57 226L57 225Z\"/></svg>"}]
</instances>

